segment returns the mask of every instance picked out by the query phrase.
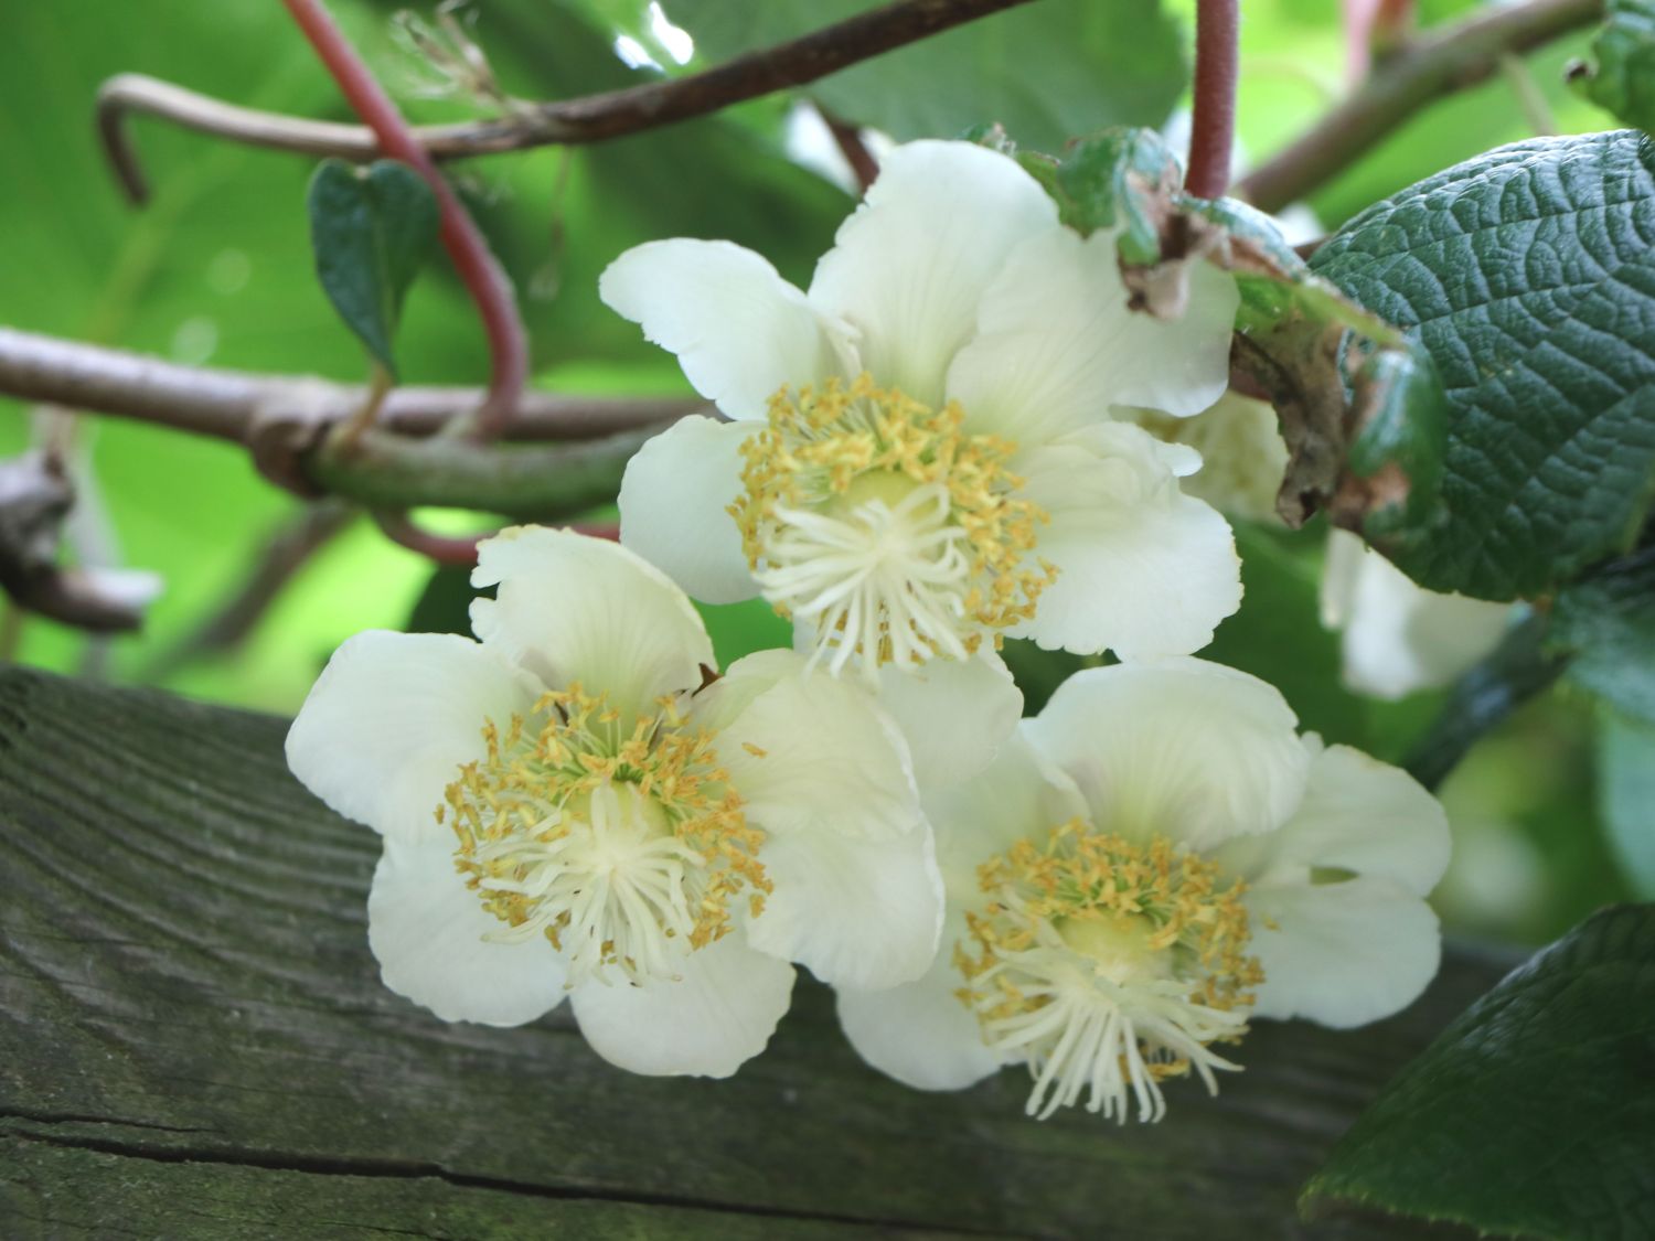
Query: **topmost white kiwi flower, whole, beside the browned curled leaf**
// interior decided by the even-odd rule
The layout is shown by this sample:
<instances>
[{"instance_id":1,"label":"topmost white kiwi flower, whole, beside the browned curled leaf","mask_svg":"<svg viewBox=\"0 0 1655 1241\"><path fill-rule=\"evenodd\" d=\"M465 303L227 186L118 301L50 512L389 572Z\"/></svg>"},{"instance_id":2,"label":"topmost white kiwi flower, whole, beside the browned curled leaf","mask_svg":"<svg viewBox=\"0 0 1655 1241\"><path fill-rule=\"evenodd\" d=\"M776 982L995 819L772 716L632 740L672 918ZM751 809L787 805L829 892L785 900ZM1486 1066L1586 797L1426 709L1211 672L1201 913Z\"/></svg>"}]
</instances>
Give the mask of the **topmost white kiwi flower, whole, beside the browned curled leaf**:
<instances>
[{"instance_id":1,"label":"topmost white kiwi flower, whole, beside the browned curled leaf","mask_svg":"<svg viewBox=\"0 0 1655 1241\"><path fill-rule=\"evenodd\" d=\"M1240 602L1230 528L1178 486L1198 453L1125 415L1225 391L1235 280L1188 278L1182 318L1134 313L1115 235L970 142L885 156L808 291L728 242L629 250L604 301L730 422L644 445L622 541L697 599L763 596L836 675L1197 650Z\"/></svg>"}]
</instances>

